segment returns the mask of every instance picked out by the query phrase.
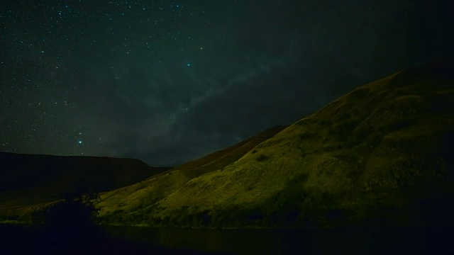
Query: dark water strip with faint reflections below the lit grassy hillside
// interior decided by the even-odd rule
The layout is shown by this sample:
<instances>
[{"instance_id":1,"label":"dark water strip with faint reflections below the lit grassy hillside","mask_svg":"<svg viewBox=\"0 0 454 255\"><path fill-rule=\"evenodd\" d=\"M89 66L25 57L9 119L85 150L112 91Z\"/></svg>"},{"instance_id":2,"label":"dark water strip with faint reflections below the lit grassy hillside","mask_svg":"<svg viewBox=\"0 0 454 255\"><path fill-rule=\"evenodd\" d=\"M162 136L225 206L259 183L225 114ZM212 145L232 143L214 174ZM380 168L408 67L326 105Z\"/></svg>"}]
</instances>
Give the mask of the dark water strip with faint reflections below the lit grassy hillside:
<instances>
[{"instance_id":1,"label":"dark water strip with faint reflections below the lit grassy hillside","mask_svg":"<svg viewBox=\"0 0 454 255\"><path fill-rule=\"evenodd\" d=\"M221 254L440 254L454 251L450 229L155 229L111 227L113 237Z\"/></svg>"}]
</instances>

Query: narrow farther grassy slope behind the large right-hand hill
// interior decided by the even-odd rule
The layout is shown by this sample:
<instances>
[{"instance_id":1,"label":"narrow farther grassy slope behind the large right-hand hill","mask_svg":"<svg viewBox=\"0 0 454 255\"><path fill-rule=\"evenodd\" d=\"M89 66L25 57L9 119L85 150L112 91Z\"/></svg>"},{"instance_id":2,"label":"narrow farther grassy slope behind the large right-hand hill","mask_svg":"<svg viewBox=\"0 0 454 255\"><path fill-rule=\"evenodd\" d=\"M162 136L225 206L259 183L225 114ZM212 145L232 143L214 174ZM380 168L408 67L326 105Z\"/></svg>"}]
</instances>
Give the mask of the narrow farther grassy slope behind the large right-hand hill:
<instances>
[{"instance_id":1,"label":"narrow farther grassy slope behind the large right-hand hill","mask_svg":"<svg viewBox=\"0 0 454 255\"><path fill-rule=\"evenodd\" d=\"M218 152L182 164L116 191L101 194L101 216L114 225L142 224L152 205L172 195L190 180L236 162L253 147L282 131L284 126L270 128L254 137Z\"/></svg>"}]
</instances>

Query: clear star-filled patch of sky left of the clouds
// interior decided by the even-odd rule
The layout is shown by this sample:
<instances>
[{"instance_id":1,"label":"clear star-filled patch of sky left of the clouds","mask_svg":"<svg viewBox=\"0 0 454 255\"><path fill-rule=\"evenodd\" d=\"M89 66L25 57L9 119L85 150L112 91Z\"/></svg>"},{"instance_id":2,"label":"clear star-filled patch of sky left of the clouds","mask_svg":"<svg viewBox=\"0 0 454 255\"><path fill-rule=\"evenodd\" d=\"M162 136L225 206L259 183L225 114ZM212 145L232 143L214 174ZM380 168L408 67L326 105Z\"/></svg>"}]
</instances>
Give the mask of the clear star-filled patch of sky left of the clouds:
<instances>
[{"instance_id":1,"label":"clear star-filled patch of sky left of the clouds","mask_svg":"<svg viewBox=\"0 0 454 255\"><path fill-rule=\"evenodd\" d=\"M150 71L169 63L191 67L194 49L203 49L191 35L204 10L184 3L23 1L2 13L8 50L1 61L1 146L13 152L83 154L79 139L94 137L79 132L87 130L80 118L95 102L82 97L102 83L94 72L123 81L137 57L150 59L138 63Z\"/></svg>"}]
</instances>

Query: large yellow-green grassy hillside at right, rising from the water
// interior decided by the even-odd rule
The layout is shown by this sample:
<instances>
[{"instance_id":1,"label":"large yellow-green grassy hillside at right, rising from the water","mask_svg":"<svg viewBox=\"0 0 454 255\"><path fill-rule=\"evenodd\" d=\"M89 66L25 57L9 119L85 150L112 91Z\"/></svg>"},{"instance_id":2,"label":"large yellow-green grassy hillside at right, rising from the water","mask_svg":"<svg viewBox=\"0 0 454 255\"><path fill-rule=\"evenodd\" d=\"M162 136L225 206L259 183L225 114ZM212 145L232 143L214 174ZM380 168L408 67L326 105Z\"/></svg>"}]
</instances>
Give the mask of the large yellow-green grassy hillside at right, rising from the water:
<instances>
[{"instance_id":1,"label":"large yellow-green grassy hillside at right, rising from the water","mask_svg":"<svg viewBox=\"0 0 454 255\"><path fill-rule=\"evenodd\" d=\"M452 225L453 74L437 62L360 86L228 165L182 167L100 205L126 225Z\"/></svg>"}]
</instances>

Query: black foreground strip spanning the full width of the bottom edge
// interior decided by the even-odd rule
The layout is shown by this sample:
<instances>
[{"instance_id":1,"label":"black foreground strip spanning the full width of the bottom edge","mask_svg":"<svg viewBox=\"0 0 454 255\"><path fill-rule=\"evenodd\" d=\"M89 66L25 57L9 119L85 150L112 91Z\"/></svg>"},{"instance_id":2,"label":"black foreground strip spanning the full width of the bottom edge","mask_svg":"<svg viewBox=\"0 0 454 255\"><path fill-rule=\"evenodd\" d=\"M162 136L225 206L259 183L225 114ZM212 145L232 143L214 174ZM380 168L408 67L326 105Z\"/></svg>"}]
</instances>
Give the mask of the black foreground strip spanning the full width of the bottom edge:
<instances>
[{"instance_id":1,"label":"black foreground strip spanning the full width of the bottom edge","mask_svg":"<svg viewBox=\"0 0 454 255\"><path fill-rule=\"evenodd\" d=\"M454 254L452 229L71 229L0 225L1 253ZM5 252L6 251L6 252Z\"/></svg>"}]
</instances>

